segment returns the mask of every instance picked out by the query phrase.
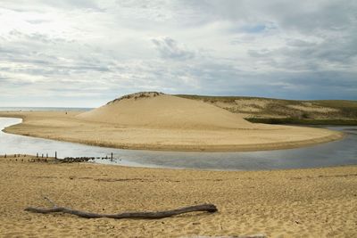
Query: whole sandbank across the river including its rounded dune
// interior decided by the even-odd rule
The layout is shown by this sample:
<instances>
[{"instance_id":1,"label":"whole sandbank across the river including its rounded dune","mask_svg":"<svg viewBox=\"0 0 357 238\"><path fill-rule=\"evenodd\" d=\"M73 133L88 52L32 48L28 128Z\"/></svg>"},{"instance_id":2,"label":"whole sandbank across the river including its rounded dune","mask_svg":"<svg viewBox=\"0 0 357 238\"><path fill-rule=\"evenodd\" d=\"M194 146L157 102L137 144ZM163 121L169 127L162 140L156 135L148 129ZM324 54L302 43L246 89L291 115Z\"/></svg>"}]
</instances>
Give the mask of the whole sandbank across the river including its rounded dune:
<instances>
[{"instance_id":1,"label":"whole sandbank across the river including its rounded dune","mask_svg":"<svg viewBox=\"0 0 357 238\"><path fill-rule=\"evenodd\" d=\"M131 94L87 112L0 111L0 117L23 119L5 128L7 133L122 149L259 151L343 137L322 128L253 124L208 103L147 94Z\"/></svg>"}]
</instances>

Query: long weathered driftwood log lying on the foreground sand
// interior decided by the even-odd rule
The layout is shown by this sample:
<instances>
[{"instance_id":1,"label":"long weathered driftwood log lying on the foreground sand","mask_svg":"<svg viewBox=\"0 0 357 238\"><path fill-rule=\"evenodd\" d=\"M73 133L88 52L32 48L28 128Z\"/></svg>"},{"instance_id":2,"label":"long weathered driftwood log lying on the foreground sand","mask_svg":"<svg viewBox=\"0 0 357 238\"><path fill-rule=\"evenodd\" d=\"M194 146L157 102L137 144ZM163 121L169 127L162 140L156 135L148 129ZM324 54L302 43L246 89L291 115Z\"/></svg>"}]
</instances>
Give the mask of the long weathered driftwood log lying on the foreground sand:
<instances>
[{"instance_id":1,"label":"long weathered driftwood log lying on the foreground sand","mask_svg":"<svg viewBox=\"0 0 357 238\"><path fill-rule=\"evenodd\" d=\"M124 212L124 213L117 213L117 214L98 214L93 212L81 211L77 209L69 209L64 207L58 207L53 201L45 197L47 201L49 201L53 207L46 209L46 208L34 208L29 207L26 208L26 211L35 212L35 213L54 213L54 212L62 212L67 214L72 214L78 217L84 218L114 218L114 219L122 219L122 218L142 218L142 219L161 219L165 217L173 217L179 214L187 213L187 212L194 212L194 211L207 211L210 213L218 211L217 207L213 204L201 204L195 205L180 209L170 209L164 211L144 211L144 212Z\"/></svg>"}]
</instances>

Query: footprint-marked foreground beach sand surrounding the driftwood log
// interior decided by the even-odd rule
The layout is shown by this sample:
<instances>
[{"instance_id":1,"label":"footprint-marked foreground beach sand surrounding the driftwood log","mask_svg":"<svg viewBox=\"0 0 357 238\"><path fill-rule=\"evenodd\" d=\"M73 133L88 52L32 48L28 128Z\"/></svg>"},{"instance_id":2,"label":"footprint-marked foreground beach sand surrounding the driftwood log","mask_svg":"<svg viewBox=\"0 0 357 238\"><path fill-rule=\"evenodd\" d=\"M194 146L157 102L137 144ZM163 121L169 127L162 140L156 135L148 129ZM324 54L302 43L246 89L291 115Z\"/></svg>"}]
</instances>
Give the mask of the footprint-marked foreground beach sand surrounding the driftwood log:
<instances>
[{"instance_id":1,"label":"footprint-marked foreground beach sand surrounding the driftwood log","mask_svg":"<svg viewBox=\"0 0 357 238\"><path fill-rule=\"evenodd\" d=\"M17 160L17 161L16 161ZM2 237L356 237L357 167L257 172L50 164L0 157ZM21 161L23 160L23 161ZM25 212L29 205L94 212L212 202L220 212L161 220L85 219Z\"/></svg>"}]
</instances>

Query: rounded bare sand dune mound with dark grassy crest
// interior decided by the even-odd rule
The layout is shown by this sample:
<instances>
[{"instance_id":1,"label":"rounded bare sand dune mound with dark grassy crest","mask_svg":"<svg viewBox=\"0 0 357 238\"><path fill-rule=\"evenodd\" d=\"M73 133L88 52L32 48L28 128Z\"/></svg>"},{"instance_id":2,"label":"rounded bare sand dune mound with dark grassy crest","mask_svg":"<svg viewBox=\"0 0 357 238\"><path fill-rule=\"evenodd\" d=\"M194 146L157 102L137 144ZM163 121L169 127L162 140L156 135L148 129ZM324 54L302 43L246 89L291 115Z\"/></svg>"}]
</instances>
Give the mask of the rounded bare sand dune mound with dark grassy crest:
<instances>
[{"instance_id":1,"label":"rounded bare sand dune mound with dark grassy crest","mask_svg":"<svg viewBox=\"0 0 357 238\"><path fill-rule=\"evenodd\" d=\"M123 127L205 130L256 127L239 114L211 104L155 92L130 94L77 118Z\"/></svg>"}]
</instances>

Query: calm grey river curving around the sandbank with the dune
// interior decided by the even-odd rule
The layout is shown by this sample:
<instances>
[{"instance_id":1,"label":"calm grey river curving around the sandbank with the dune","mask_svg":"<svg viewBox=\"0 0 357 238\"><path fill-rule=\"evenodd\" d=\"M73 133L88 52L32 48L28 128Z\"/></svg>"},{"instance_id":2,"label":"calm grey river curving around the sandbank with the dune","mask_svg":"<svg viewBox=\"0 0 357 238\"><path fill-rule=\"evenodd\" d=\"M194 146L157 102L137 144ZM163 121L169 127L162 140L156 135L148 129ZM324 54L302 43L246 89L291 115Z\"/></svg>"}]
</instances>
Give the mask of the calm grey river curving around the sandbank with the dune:
<instances>
[{"instance_id":1,"label":"calm grey river curving around the sandbank with the dune","mask_svg":"<svg viewBox=\"0 0 357 238\"><path fill-rule=\"evenodd\" d=\"M0 118L0 130L21 119ZM144 168L188 168L207 170L271 170L320 168L357 164L357 127L326 127L345 133L345 138L309 147L259 152L153 152L121 150L60 142L0 132L0 154L48 154L64 157L110 157L95 163Z\"/></svg>"}]
</instances>

